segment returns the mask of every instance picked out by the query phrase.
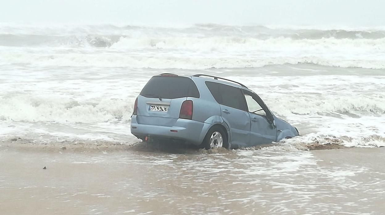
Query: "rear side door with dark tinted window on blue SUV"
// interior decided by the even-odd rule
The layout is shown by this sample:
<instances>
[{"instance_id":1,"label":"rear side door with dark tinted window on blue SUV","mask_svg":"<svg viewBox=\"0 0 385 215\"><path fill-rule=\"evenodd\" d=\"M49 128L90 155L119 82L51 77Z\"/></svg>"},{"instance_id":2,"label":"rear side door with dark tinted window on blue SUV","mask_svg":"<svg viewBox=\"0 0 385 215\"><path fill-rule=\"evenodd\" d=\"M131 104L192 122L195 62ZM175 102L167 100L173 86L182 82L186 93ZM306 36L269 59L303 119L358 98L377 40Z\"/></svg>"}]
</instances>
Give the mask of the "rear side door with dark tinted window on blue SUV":
<instances>
[{"instance_id":1,"label":"rear side door with dark tinted window on blue SUV","mask_svg":"<svg viewBox=\"0 0 385 215\"><path fill-rule=\"evenodd\" d=\"M250 133L250 116L242 90L216 82L206 82L207 87L221 107L221 117L231 131L230 143L247 146Z\"/></svg>"}]
</instances>

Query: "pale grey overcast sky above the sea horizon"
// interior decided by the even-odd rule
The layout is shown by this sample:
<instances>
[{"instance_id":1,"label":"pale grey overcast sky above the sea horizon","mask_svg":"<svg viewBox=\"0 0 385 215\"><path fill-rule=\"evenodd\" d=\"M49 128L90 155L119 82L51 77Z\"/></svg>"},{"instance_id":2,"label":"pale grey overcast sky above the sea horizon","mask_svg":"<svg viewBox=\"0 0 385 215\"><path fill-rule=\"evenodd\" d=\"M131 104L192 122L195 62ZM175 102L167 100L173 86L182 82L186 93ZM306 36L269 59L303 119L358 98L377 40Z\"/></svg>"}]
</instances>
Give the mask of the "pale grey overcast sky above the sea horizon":
<instances>
[{"instance_id":1,"label":"pale grey overcast sky above the sea horizon","mask_svg":"<svg viewBox=\"0 0 385 215\"><path fill-rule=\"evenodd\" d=\"M385 0L0 0L0 22L385 26Z\"/></svg>"}]
</instances>

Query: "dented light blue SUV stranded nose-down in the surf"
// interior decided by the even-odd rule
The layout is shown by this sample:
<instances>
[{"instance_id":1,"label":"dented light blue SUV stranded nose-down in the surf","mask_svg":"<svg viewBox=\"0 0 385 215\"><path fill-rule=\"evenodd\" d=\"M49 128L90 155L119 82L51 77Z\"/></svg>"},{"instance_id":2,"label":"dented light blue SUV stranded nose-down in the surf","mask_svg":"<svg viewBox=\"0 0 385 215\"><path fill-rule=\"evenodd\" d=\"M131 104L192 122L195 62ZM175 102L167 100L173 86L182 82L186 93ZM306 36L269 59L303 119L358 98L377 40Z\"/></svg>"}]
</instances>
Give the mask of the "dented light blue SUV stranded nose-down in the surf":
<instances>
[{"instance_id":1,"label":"dented light blue SUV stranded nose-down in the surf","mask_svg":"<svg viewBox=\"0 0 385 215\"><path fill-rule=\"evenodd\" d=\"M239 148L299 135L245 85L212 75L153 76L134 103L131 133L143 141Z\"/></svg>"}]
</instances>

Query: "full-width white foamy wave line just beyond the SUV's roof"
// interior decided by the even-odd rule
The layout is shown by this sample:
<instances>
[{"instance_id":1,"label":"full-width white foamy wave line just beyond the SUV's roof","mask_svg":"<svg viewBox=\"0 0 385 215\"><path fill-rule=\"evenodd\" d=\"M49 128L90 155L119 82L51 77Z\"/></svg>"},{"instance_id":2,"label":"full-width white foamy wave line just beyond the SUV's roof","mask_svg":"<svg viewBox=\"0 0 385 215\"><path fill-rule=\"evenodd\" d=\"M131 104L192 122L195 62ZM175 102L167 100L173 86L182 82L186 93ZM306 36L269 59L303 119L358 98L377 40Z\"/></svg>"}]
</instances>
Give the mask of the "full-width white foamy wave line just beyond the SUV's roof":
<instances>
[{"instance_id":1,"label":"full-width white foamy wave line just beyond the SUV's roof","mask_svg":"<svg viewBox=\"0 0 385 215\"><path fill-rule=\"evenodd\" d=\"M384 43L385 44L385 43ZM127 68L252 68L266 65L283 65L312 63L331 67L361 67L383 69L383 59L349 59L343 57L173 57L173 56L141 56L108 54L30 54L30 53L0 53L1 64L29 64L32 66L61 66L61 67L127 67ZM365 57L367 58L367 57Z\"/></svg>"}]
</instances>

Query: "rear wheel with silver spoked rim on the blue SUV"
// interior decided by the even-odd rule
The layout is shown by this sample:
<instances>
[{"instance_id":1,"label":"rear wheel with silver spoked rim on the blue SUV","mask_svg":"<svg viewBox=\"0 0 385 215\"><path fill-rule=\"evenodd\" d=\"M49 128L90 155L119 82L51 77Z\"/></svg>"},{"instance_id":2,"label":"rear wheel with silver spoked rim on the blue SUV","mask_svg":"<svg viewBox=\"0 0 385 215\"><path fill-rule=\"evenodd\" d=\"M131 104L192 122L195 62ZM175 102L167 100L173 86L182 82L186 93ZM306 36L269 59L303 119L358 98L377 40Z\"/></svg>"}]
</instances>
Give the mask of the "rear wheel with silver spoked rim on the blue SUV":
<instances>
[{"instance_id":1,"label":"rear wheel with silver spoked rim on the blue SUV","mask_svg":"<svg viewBox=\"0 0 385 215\"><path fill-rule=\"evenodd\" d=\"M213 140L212 140L212 137L213 137ZM222 140L222 143L220 143L220 140ZM210 144L210 143L214 143L214 144ZM219 145L219 147L223 147L227 149L230 148L227 140L227 136L226 136L226 131L224 131L223 128L219 126L213 126L209 129L206 136L204 137L202 145L203 145L203 148L205 148L206 150L209 150L211 148L218 147L217 144Z\"/></svg>"}]
</instances>

